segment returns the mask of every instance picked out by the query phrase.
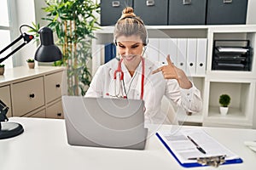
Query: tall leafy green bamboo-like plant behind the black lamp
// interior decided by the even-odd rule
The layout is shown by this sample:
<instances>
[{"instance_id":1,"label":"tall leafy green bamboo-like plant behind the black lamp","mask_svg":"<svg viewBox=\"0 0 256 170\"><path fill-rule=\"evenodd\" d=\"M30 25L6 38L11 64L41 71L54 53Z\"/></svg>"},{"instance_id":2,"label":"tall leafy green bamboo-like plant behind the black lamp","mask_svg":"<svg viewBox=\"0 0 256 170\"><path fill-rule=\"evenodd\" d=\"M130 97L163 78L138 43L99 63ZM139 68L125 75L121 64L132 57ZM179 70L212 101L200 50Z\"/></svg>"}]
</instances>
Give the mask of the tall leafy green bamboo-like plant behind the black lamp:
<instances>
[{"instance_id":1,"label":"tall leafy green bamboo-like plant behind the black lamp","mask_svg":"<svg viewBox=\"0 0 256 170\"><path fill-rule=\"evenodd\" d=\"M100 3L94 0L46 1L43 8L47 13L43 20L55 31L63 58L55 65L67 67L68 94L85 94L90 84L91 42L94 31L99 29L96 14ZM35 27L37 25L34 25Z\"/></svg>"}]
</instances>

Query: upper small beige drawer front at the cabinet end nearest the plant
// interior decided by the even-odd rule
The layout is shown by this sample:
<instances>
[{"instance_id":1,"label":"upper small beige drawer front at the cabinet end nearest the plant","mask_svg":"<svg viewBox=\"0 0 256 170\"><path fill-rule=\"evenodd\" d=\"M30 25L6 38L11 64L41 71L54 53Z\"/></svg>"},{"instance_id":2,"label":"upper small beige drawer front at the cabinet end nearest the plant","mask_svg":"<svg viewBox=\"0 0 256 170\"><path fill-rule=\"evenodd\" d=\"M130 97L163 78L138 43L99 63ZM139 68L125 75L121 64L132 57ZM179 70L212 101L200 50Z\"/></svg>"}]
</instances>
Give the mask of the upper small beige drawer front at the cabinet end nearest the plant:
<instances>
[{"instance_id":1,"label":"upper small beige drawer front at the cabinet end nearest the plant","mask_svg":"<svg viewBox=\"0 0 256 170\"><path fill-rule=\"evenodd\" d=\"M46 103L61 97L63 71L45 76Z\"/></svg>"}]
</instances>

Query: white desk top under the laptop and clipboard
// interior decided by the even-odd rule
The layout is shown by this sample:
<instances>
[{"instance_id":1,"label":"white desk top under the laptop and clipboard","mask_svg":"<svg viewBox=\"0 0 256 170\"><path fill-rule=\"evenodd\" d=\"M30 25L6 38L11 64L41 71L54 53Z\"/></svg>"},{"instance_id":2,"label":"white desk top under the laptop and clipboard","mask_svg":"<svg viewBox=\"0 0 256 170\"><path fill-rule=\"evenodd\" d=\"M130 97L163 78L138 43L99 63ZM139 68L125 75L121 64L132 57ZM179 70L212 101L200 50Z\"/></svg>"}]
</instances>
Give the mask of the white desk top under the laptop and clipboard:
<instances>
[{"instance_id":1,"label":"white desk top under the laptop and clipboard","mask_svg":"<svg viewBox=\"0 0 256 170\"><path fill-rule=\"evenodd\" d=\"M65 122L56 119L12 117L25 132L13 139L0 140L1 170L70 170L70 169L215 169L214 167L183 168L154 135L145 150L118 150L67 144ZM170 129L172 126L163 126ZM202 127L238 156L243 163L223 165L218 169L253 169L256 153L243 144L256 139L256 130Z\"/></svg>"}]
</instances>

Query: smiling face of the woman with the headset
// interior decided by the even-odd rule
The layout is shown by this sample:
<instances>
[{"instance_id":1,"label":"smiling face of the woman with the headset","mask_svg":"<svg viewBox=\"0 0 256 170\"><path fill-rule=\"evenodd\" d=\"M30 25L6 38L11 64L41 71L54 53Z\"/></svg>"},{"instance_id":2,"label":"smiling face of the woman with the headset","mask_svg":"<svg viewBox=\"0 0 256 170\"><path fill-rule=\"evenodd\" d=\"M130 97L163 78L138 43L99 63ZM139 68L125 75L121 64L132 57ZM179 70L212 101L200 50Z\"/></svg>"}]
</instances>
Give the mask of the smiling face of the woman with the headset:
<instances>
[{"instance_id":1,"label":"smiling face of the woman with the headset","mask_svg":"<svg viewBox=\"0 0 256 170\"><path fill-rule=\"evenodd\" d=\"M143 54L142 39L133 35L130 37L120 36L116 41L119 55L124 60L125 66L128 70L135 71Z\"/></svg>"}]
</instances>

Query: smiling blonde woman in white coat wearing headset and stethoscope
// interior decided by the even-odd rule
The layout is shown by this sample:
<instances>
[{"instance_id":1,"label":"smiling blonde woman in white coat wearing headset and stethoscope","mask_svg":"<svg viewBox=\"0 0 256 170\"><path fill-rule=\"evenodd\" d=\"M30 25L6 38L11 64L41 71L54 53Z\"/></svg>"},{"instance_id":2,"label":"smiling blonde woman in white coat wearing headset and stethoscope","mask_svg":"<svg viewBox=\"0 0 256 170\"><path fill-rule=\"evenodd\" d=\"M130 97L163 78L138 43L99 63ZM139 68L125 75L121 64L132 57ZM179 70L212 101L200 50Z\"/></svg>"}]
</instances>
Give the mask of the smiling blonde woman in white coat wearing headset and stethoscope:
<instances>
[{"instance_id":1,"label":"smiling blonde woman in white coat wearing headset and stethoscope","mask_svg":"<svg viewBox=\"0 0 256 170\"><path fill-rule=\"evenodd\" d=\"M146 123L168 122L166 114L160 111L163 96L185 111L201 111L200 91L184 71L172 65L169 55L168 65L161 67L143 57L148 34L133 8L123 10L114 26L113 38L119 56L99 67L85 97L143 99Z\"/></svg>"}]
</instances>

